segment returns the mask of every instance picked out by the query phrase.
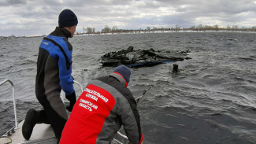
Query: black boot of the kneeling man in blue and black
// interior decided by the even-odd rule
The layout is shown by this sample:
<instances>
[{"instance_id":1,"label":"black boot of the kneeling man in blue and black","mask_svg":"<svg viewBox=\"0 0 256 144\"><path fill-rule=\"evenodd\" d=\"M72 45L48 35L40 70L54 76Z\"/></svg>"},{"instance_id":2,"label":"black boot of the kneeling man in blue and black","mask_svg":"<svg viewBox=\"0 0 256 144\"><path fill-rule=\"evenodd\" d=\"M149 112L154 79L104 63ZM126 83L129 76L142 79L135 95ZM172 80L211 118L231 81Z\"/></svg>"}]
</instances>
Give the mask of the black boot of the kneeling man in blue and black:
<instances>
[{"instance_id":1,"label":"black boot of the kneeling man in blue and black","mask_svg":"<svg viewBox=\"0 0 256 144\"><path fill-rule=\"evenodd\" d=\"M33 128L37 123L36 113L35 109L29 109L24 124L22 125L22 135L27 140L31 137Z\"/></svg>"}]
</instances>

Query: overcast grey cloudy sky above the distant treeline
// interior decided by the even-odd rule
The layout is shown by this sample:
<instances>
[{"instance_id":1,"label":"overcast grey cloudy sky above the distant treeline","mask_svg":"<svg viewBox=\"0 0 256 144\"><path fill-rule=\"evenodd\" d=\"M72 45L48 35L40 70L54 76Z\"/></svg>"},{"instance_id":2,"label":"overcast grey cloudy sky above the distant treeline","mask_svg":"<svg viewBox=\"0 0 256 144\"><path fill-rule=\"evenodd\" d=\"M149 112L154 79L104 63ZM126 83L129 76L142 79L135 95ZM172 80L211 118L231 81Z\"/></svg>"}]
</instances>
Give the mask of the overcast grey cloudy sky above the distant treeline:
<instances>
[{"instance_id":1,"label":"overcast grey cloudy sky above the distant treeline","mask_svg":"<svg viewBox=\"0 0 256 144\"><path fill-rule=\"evenodd\" d=\"M71 9L83 27L101 31L181 28L193 25L256 26L256 0L0 0L0 35L48 35L58 15Z\"/></svg>"}]
</instances>

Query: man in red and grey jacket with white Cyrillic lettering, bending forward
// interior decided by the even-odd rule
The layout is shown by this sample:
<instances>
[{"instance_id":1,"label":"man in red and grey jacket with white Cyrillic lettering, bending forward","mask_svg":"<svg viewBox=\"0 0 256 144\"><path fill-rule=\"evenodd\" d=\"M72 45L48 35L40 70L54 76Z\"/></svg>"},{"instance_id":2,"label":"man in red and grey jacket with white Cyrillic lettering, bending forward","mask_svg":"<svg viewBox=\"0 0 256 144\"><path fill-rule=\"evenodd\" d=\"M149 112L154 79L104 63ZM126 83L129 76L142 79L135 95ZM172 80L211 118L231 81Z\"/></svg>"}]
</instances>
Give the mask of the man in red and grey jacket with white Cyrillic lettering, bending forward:
<instances>
[{"instance_id":1,"label":"man in red and grey jacket with white Cyrillic lettering, bending forward","mask_svg":"<svg viewBox=\"0 0 256 144\"><path fill-rule=\"evenodd\" d=\"M120 65L87 85L72 109L60 144L109 144L121 125L132 144L143 142L135 98L127 88L131 71Z\"/></svg>"}]
</instances>

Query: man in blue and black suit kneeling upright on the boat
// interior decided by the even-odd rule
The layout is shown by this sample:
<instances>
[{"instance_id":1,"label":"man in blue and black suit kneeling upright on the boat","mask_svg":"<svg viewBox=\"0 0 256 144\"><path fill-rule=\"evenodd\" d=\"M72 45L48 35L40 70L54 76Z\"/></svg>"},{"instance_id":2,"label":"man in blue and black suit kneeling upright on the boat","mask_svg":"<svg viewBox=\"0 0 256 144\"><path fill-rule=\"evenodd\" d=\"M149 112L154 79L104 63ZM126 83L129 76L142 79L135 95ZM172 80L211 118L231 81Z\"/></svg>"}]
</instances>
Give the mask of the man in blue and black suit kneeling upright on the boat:
<instances>
[{"instance_id":1,"label":"man in blue and black suit kneeling upright on the boat","mask_svg":"<svg viewBox=\"0 0 256 144\"><path fill-rule=\"evenodd\" d=\"M76 93L72 79L72 45L68 39L76 31L78 20L70 9L63 10L58 18L59 27L43 38L39 46L35 94L43 110L29 109L26 115L22 134L29 139L35 124L50 124L58 142L68 119L65 105L61 101L61 89L70 105L70 112L76 103Z\"/></svg>"}]
</instances>

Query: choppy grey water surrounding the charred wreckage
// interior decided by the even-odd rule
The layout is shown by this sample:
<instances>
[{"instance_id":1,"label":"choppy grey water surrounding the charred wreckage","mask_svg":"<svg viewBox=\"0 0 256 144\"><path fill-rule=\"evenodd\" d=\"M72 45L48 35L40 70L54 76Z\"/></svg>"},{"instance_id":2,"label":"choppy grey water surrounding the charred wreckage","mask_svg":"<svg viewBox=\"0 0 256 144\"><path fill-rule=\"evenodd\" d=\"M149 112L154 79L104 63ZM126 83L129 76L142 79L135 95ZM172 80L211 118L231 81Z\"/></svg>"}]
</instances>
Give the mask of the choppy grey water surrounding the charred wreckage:
<instances>
[{"instance_id":1,"label":"choppy grey water surrounding the charred wreckage","mask_svg":"<svg viewBox=\"0 0 256 144\"><path fill-rule=\"evenodd\" d=\"M129 88L135 97L154 84L138 104L145 144L256 143L255 33L155 33L90 35L69 39L73 45L72 75L83 87L101 68L100 57L127 49L190 50L192 59L132 68ZM35 98L35 71L42 37L0 41L0 81L15 85L18 120L28 109L40 109ZM77 95L80 88L76 86ZM11 87L0 90L1 132L13 126Z\"/></svg>"}]
</instances>

